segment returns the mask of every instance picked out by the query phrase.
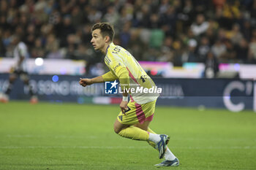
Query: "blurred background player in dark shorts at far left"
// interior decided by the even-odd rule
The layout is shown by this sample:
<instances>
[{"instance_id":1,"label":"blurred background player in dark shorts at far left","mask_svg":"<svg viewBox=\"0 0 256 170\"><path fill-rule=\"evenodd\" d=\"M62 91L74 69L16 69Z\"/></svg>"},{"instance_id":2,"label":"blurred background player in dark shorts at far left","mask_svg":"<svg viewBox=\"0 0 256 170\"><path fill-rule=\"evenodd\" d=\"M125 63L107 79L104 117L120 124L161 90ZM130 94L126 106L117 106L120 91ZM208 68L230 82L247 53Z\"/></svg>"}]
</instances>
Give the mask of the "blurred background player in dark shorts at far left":
<instances>
[{"instance_id":1,"label":"blurred background player in dark shorts at far left","mask_svg":"<svg viewBox=\"0 0 256 170\"><path fill-rule=\"evenodd\" d=\"M4 93L0 93L0 101L7 103L9 101L9 94L12 91L12 86L15 80L20 77L24 84L29 87L29 94L31 96L31 104L38 102L37 96L34 95L31 86L29 85L29 75L26 72L26 58L29 57L27 47L24 42L20 41L19 36L12 36L12 45L15 46L13 50L15 65L10 70L9 85Z\"/></svg>"}]
</instances>

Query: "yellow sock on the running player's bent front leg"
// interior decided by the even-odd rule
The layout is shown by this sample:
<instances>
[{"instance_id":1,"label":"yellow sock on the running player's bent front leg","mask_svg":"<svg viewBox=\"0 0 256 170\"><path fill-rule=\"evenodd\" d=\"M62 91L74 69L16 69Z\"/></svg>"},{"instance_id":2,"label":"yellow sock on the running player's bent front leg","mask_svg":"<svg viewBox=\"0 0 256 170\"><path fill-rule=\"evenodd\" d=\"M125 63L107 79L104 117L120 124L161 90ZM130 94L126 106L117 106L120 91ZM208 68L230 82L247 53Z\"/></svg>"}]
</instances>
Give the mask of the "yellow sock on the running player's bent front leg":
<instances>
[{"instance_id":1,"label":"yellow sock on the running player's bent front leg","mask_svg":"<svg viewBox=\"0 0 256 170\"><path fill-rule=\"evenodd\" d=\"M132 140L140 140L140 141L148 141L148 132L143 131L141 128L137 128L135 126L129 126L128 128L124 128L121 130L118 135L123 136L125 138L129 138Z\"/></svg>"}]
</instances>

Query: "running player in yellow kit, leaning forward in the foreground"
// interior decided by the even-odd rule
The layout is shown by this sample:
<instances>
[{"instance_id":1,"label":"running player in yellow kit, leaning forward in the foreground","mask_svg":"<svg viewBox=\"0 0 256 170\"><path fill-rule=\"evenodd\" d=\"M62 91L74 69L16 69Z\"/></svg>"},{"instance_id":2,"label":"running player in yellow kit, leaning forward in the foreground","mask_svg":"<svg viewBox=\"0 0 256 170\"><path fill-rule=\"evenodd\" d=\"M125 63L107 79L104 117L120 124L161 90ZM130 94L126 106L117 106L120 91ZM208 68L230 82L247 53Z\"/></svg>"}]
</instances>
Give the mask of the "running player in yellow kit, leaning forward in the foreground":
<instances>
[{"instance_id":1,"label":"running player in yellow kit, leaning forward in the foreground","mask_svg":"<svg viewBox=\"0 0 256 170\"><path fill-rule=\"evenodd\" d=\"M159 151L159 158L165 161L155 166L178 166L175 155L167 147L169 136L156 134L148 125L154 116L154 109L158 93L148 94L145 91L133 92L132 87L154 88L153 80L142 69L138 61L123 47L113 44L114 30L108 23L96 23L91 28L91 44L94 50L105 54L105 64L110 72L92 79L81 78L79 83L83 87L98 82L119 80L123 92L121 112L114 123L116 134L134 140L146 141ZM128 102L128 94L130 100Z\"/></svg>"}]
</instances>

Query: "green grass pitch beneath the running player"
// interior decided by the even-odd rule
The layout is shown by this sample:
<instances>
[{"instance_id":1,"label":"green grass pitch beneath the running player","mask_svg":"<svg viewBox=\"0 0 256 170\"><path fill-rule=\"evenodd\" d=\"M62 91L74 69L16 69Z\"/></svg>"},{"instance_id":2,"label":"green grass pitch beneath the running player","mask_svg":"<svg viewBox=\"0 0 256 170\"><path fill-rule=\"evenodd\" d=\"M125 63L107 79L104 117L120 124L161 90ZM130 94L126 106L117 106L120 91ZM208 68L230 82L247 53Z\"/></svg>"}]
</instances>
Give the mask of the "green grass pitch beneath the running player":
<instances>
[{"instance_id":1,"label":"green grass pitch beneath the running player","mask_svg":"<svg viewBox=\"0 0 256 170\"><path fill-rule=\"evenodd\" d=\"M148 143L113 132L118 105L0 104L0 169L150 170ZM152 130L168 134L178 170L256 169L256 113L157 107Z\"/></svg>"}]
</instances>

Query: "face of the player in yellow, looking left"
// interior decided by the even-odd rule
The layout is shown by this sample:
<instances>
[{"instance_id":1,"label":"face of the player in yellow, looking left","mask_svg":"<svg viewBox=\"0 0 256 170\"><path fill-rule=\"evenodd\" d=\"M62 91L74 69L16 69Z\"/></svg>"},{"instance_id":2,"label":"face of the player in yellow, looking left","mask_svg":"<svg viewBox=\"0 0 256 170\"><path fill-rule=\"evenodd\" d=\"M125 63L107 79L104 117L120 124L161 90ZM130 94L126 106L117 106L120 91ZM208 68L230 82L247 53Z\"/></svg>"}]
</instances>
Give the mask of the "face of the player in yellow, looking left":
<instances>
[{"instance_id":1,"label":"face of the player in yellow, looking left","mask_svg":"<svg viewBox=\"0 0 256 170\"><path fill-rule=\"evenodd\" d=\"M91 44L94 46L94 50L102 50L105 47L105 39L100 34L100 29L92 31L91 36Z\"/></svg>"}]
</instances>

